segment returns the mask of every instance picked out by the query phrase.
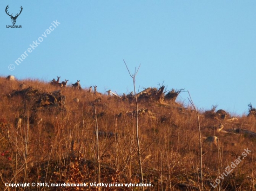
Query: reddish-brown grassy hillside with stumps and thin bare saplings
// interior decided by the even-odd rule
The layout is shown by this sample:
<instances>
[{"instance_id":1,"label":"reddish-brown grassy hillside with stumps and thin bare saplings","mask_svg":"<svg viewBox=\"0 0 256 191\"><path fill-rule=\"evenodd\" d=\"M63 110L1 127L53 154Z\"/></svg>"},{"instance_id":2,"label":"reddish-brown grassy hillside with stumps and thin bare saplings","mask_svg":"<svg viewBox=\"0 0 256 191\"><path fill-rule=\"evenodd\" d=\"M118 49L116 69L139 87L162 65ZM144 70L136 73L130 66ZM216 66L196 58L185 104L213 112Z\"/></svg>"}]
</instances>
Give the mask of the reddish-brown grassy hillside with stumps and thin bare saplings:
<instances>
[{"instance_id":1,"label":"reddish-brown grassy hillside with stumps and thin bare saplings","mask_svg":"<svg viewBox=\"0 0 256 191\"><path fill-rule=\"evenodd\" d=\"M175 102L181 90L163 92L161 88L138 95L141 167L144 183L152 185L144 188L196 190L201 186L196 112ZM141 190L124 185L141 182L135 108L133 95L0 77L0 190L12 190L5 183L25 182L88 184L41 184L30 191ZM254 108L250 109L249 116L231 116L215 107L199 112L204 190L213 189L212 185L222 191L256 189L256 117ZM245 156L244 149L251 152ZM227 174L232 162L236 166ZM99 175L101 183L113 187L91 186L99 182Z\"/></svg>"}]
</instances>

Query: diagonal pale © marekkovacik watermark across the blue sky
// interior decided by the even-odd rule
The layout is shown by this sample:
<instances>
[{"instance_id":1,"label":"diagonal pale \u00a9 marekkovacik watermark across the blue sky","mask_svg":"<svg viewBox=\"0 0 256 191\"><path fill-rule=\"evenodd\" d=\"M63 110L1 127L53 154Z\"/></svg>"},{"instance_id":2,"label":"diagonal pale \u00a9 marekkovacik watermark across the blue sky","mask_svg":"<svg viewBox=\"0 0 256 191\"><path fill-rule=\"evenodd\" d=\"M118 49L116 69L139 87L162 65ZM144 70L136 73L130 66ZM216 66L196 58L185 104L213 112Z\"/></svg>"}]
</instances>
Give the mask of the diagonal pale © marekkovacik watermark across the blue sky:
<instances>
[{"instance_id":1,"label":"diagonal pale \u00a9 marekkovacik watermark across the blue sky","mask_svg":"<svg viewBox=\"0 0 256 191\"><path fill-rule=\"evenodd\" d=\"M28 48L26 51L23 52L23 54L20 55L20 57L18 57L17 60L14 61L14 63L18 66L21 62L23 62L23 60L26 59L26 57L28 57L28 53L31 53L33 50L35 50L35 48L40 45L41 42L43 42L44 38L47 38L47 35L50 34L52 31L54 31L55 28L57 28L57 26L59 26L61 23L58 22L58 20L53 21L52 25L43 33L41 34L41 36L33 41L32 45L29 45L30 48ZM39 42L37 42L39 41ZM9 70L14 70L15 69L15 65L14 64L10 64L8 66Z\"/></svg>"}]
</instances>

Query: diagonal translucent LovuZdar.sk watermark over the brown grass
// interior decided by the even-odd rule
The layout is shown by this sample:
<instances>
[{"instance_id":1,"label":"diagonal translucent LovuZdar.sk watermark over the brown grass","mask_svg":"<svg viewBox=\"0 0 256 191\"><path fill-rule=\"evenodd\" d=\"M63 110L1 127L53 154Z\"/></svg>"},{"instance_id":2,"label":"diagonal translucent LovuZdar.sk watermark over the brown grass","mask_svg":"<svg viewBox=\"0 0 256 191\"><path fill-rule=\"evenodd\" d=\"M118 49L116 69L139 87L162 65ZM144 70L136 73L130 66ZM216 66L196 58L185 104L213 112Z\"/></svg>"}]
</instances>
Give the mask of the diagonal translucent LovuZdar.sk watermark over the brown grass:
<instances>
[{"instance_id":1,"label":"diagonal translucent LovuZdar.sk watermark over the brown grass","mask_svg":"<svg viewBox=\"0 0 256 191\"><path fill-rule=\"evenodd\" d=\"M233 169L235 169L236 166L237 166L239 163L241 163L242 160L243 160L245 157L247 157L247 154L249 154L249 153L251 152L248 148L247 148L247 149L244 149L244 151L245 151L245 152L242 153L243 158L240 159L241 156L239 156L236 160L234 160L233 162L231 162L231 165L230 165L230 166L227 166L227 167L225 168L225 169L226 169L225 172L226 172L227 174L225 174L225 172L222 172L222 174L215 180L216 185L213 185L213 184L210 183L210 185L212 185L213 188L216 188L217 185L221 183L221 179L223 180L225 177L227 177L227 176L230 174L230 172L232 172ZM231 167L231 168L230 168L230 167ZM224 176L225 176L225 177L224 177Z\"/></svg>"}]
</instances>

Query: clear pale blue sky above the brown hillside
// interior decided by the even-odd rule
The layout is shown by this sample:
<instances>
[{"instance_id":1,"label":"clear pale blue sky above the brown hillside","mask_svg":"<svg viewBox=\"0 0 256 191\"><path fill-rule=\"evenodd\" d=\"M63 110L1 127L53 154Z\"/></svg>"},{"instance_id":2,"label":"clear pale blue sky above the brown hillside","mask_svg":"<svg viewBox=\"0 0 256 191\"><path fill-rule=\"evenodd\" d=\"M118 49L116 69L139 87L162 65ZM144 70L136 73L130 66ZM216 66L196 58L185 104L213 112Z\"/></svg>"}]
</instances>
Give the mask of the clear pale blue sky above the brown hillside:
<instances>
[{"instance_id":1,"label":"clear pale blue sky above the brown hillside","mask_svg":"<svg viewBox=\"0 0 256 191\"><path fill-rule=\"evenodd\" d=\"M13 16L23 7L22 28L7 28L7 5ZM189 90L197 108L237 115L256 107L255 0L1 0L0 10L1 76L61 76L122 95L133 91L124 59L132 71L141 64L140 90L163 83Z\"/></svg>"}]
</instances>

